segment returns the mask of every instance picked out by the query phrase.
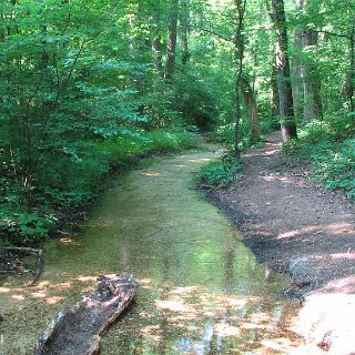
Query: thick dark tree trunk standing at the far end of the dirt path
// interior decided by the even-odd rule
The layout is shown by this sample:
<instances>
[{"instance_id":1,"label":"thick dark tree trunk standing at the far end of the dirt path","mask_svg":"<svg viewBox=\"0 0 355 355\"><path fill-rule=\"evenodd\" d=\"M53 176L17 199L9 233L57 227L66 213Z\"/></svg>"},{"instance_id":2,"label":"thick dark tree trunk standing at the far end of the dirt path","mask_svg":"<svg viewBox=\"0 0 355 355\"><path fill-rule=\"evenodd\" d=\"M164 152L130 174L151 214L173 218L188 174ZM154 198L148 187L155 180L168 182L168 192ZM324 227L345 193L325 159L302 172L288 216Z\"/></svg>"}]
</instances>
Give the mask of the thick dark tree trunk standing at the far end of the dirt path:
<instances>
[{"instance_id":1,"label":"thick dark tree trunk standing at the far end of the dirt path","mask_svg":"<svg viewBox=\"0 0 355 355\"><path fill-rule=\"evenodd\" d=\"M283 0L272 0L272 19L275 24L276 68L280 95L281 131L284 142L297 138L296 121L293 109L290 58L287 53L287 29Z\"/></svg>"}]
</instances>

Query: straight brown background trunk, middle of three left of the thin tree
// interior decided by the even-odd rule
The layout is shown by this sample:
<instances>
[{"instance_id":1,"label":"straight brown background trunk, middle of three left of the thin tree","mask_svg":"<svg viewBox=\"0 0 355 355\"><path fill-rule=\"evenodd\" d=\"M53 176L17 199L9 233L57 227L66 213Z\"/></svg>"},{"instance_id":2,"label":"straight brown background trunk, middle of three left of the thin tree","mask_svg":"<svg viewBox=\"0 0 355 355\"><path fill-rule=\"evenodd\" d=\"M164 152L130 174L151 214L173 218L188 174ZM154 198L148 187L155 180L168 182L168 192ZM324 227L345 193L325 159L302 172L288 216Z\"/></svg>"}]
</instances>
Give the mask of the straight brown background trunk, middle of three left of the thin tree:
<instances>
[{"instance_id":1,"label":"straight brown background trunk, middle of three left of the thin tree","mask_svg":"<svg viewBox=\"0 0 355 355\"><path fill-rule=\"evenodd\" d=\"M169 19L169 38L168 38L168 60L165 68L165 81L170 82L173 79L175 71L176 58L176 39L178 39L178 16L179 0L171 0L170 19Z\"/></svg>"}]
</instances>

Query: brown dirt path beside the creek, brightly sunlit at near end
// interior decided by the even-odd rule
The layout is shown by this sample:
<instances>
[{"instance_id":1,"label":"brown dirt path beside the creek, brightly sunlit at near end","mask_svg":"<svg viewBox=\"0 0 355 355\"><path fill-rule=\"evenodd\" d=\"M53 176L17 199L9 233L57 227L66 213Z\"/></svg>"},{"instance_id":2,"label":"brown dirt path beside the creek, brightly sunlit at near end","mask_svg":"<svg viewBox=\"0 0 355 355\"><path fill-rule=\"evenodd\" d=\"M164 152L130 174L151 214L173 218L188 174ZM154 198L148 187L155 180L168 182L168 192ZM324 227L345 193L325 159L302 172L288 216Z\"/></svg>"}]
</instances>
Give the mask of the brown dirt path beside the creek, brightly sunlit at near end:
<instances>
[{"instance_id":1,"label":"brown dirt path beside the creek, brightly sunlit at near end","mask_svg":"<svg viewBox=\"0 0 355 355\"><path fill-rule=\"evenodd\" d=\"M301 318L310 323L310 329L302 323L302 333L331 352L335 349L335 334L344 343L345 329L339 335L334 329L336 321L344 327L348 315L354 320L355 314L354 206L344 194L327 192L314 183L305 162L281 156L280 133L266 139L264 148L244 155L244 179L212 193L210 199L237 224L260 262L291 273L292 285L286 293L306 301L308 315L301 314ZM334 310L332 316L329 310ZM324 331L315 335L314 324L321 317ZM324 317L331 317L328 326ZM348 352L337 347L334 354L355 354L355 344L351 346Z\"/></svg>"}]
</instances>

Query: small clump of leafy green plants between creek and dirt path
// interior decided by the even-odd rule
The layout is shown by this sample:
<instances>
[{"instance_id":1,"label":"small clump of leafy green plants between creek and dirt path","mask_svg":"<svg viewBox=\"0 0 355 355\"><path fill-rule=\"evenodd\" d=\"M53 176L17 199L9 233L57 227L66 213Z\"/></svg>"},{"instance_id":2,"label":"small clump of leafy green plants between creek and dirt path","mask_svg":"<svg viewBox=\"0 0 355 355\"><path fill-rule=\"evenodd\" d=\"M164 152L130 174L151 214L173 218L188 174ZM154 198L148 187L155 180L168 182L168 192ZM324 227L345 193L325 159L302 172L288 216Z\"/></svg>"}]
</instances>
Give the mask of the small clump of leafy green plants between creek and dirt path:
<instances>
[{"instance_id":1,"label":"small clump of leafy green plants between creek and dirt path","mask_svg":"<svg viewBox=\"0 0 355 355\"><path fill-rule=\"evenodd\" d=\"M240 174L241 168L241 160L226 155L204 165L200 172L200 182L209 189L226 187L231 182L242 178Z\"/></svg>"}]
</instances>

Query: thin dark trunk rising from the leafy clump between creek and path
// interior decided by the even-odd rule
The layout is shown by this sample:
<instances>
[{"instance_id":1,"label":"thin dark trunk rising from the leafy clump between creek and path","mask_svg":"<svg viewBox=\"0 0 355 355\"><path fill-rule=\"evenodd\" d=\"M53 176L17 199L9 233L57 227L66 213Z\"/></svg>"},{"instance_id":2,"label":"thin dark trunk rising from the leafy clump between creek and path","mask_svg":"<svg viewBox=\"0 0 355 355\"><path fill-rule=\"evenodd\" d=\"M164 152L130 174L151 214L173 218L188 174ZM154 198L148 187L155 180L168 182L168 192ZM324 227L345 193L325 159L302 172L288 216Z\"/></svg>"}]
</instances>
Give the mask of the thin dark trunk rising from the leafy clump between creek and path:
<instances>
[{"instance_id":1,"label":"thin dark trunk rising from the leafy clump between creek and path","mask_svg":"<svg viewBox=\"0 0 355 355\"><path fill-rule=\"evenodd\" d=\"M236 79L234 87L234 155L235 158L241 156L239 149L240 143L240 122L242 119L241 110L241 81L243 75L243 59L244 59L244 14L246 0L234 0L235 16L236 16L236 28L234 32L234 62L236 69Z\"/></svg>"}]
</instances>

